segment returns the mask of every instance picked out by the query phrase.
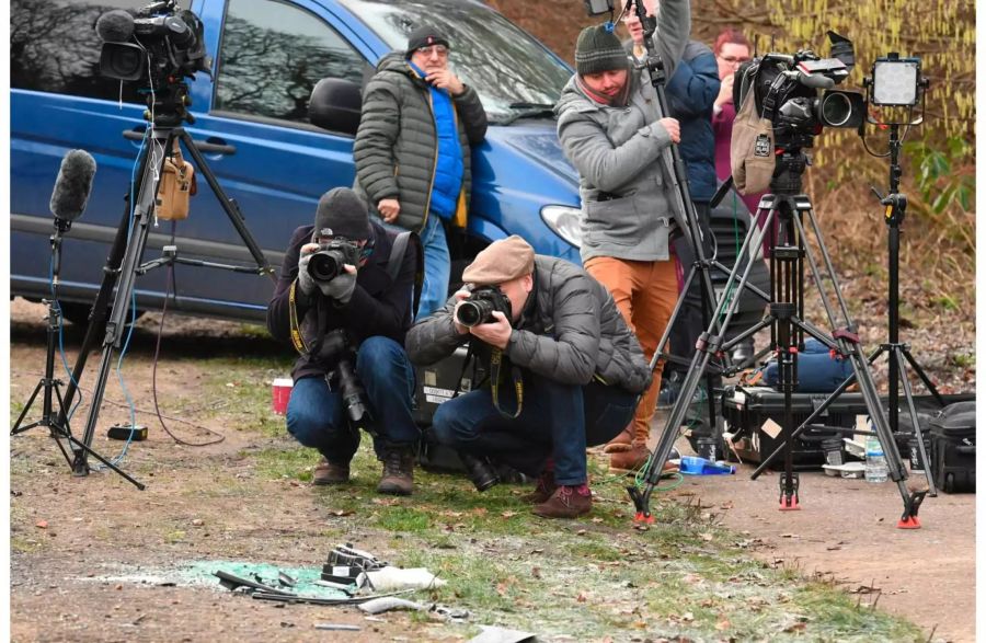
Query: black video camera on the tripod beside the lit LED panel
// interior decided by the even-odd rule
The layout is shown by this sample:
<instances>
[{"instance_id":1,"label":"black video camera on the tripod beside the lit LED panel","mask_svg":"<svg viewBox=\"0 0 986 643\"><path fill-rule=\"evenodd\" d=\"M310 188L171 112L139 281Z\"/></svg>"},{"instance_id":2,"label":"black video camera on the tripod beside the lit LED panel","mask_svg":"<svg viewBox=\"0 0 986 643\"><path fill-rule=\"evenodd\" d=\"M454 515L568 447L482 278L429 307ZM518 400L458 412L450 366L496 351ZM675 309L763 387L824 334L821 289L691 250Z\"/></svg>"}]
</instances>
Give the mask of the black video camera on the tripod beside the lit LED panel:
<instances>
[{"instance_id":1,"label":"black video camera on the tripod beside the lit LED panel","mask_svg":"<svg viewBox=\"0 0 986 643\"><path fill-rule=\"evenodd\" d=\"M828 32L833 58L811 50L793 55L767 54L745 62L736 72L734 104L754 92L757 113L773 125L778 148L812 147L823 127L862 126L865 101L860 92L834 90L856 65L852 42ZM818 90L825 90L818 96Z\"/></svg>"}]
</instances>

